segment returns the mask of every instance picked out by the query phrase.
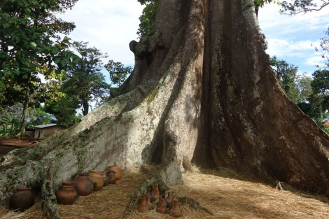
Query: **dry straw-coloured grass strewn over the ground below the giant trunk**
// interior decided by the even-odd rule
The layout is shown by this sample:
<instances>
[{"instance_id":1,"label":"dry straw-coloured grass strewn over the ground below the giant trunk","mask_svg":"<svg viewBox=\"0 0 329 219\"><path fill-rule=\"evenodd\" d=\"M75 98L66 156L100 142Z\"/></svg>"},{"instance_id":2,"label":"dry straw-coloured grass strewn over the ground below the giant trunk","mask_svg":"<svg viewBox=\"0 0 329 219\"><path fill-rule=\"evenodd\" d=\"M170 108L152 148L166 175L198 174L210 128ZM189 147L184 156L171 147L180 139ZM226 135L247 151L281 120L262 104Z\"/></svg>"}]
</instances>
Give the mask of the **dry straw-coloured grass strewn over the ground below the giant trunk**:
<instances>
[{"instance_id":1,"label":"dry straw-coloured grass strewn over the ground below the giant trunk","mask_svg":"<svg viewBox=\"0 0 329 219\"><path fill-rule=\"evenodd\" d=\"M201 173L203 172L203 173ZM80 196L73 205L60 205L61 218L120 218L130 196L148 178L138 169L124 171L115 185L104 187L89 196ZM296 192L279 191L256 183L246 176L228 169L196 170L183 174L184 185L172 186L178 196L194 198L213 212L194 211L181 205L182 218L329 218L329 206L320 196L308 198ZM328 200L324 200L328 201ZM0 208L0 218L44 218L41 202L23 213ZM171 218L155 210L139 213L131 218Z\"/></svg>"}]
</instances>

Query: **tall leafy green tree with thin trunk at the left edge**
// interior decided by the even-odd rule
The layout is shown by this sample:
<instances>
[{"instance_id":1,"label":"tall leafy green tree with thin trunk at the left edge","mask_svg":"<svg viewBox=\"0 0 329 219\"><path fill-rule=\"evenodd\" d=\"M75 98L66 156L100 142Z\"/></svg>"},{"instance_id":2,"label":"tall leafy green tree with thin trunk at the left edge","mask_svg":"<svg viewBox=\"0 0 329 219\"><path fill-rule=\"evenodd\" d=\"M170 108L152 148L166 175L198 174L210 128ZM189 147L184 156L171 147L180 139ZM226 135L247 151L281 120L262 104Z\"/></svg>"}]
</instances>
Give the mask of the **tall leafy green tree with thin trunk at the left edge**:
<instances>
[{"instance_id":1,"label":"tall leafy green tree with thin trunk at the left edge","mask_svg":"<svg viewBox=\"0 0 329 219\"><path fill-rule=\"evenodd\" d=\"M24 135L27 111L38 82L38 73L45 76L67 68L74 56L67 49L68 34L73 23L58 19L55 14L71 9L77 0L8 0L0 1L0 86L6 84L23 91L23 116L18 136ZM56 41L54 41L56 39ZM47 71L44 71L47 69Z\"/></svg>"}]
</instances>

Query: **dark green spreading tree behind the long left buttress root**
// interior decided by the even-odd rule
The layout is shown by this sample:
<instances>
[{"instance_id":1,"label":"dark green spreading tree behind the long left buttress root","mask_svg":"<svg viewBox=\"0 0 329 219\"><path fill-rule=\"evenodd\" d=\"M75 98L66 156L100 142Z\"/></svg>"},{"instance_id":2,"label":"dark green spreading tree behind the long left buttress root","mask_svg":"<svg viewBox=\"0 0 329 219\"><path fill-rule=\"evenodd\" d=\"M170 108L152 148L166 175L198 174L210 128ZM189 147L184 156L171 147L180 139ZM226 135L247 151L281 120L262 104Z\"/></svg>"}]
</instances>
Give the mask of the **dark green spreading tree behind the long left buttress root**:
<instances>
[{"instance_id":1,"label":"dark green spreading tree behind the long left buttress root","mask_svg":"<svg viewBox=\"0 0 329 219\"><path fill-rule=\"evenodd\" d=\"M89 48L88 42L74 42L73 48L79 58L71 63L68 78L63 81L62 91L68 99L76 99L87 115L91 102L101 104L109 96L110 86L106 83L102 70L102 58L107 58L95 47Z\"/></svg>"}]
</instances>

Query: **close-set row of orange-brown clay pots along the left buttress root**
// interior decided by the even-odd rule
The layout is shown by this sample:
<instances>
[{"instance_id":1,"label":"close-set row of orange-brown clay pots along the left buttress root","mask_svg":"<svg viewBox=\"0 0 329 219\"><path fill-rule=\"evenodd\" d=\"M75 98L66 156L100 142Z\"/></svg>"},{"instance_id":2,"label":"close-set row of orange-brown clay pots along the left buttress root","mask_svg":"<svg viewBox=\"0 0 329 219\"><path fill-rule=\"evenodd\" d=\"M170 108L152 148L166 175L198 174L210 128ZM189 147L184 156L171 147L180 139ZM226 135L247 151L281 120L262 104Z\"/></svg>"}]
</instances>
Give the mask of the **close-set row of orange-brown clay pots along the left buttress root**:
<instances>
[{"instance_id":1,"label":"close-set row of orange-brown clay pots along the left buttress root","mask_svg":"<svg viewBox=\"0 0 329 219\"><path fill-rule=\"evenodd\" d=\"M114 184L121 175L122 172L117 165L109 166L107 171L90 170L89 173L79 173L75 181L62 182L62 187L55 194L57 202L72 205L78 195L89 195L92 191L99 191L103 186Z\"/></svg>"}]
</instances>

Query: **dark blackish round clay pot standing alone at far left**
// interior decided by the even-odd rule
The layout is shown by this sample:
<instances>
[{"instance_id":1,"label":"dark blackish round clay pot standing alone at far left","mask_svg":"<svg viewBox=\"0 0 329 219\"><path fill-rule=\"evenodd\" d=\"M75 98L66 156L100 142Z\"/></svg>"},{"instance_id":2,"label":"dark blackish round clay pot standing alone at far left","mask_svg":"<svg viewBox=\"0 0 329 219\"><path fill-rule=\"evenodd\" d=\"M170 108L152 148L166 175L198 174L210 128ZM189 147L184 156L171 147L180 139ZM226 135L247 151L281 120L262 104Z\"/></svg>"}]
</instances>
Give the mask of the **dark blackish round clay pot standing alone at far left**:
<instances>
[{"instance_id":1,"label":"dark blackish round clay pot standing alone at far left","mask_svg":"<svg viewBox=\"0 0 329 219\"><path fill-rule=\"evenodd\" d=\"M18 187L16 192L10 197L10 208L24 211L34 205L34 194L31 188Z\"/></svg>"}]
</instances>

